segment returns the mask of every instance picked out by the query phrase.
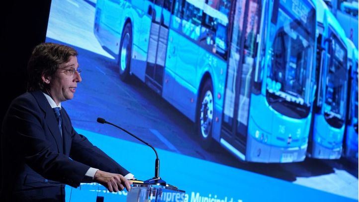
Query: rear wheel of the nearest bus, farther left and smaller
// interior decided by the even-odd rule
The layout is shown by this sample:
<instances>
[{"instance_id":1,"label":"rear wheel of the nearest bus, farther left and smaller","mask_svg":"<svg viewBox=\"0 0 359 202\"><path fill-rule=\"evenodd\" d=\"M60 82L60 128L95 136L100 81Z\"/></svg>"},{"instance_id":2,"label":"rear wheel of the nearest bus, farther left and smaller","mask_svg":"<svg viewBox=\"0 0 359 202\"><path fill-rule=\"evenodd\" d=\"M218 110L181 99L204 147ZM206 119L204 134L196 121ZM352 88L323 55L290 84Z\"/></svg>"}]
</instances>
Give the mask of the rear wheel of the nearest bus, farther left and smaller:
<instances>
[{"instance_id":1,"label":"rear wheel of the nearest bus, farther left and smaller","mask_svg":"<svg viewBox=\"0 0 359 202\"><path fill-rule=\"evenodd\" d=\"M130 76L131 52L132 52L132 31L131 24L126 23L123 29L118 56L120 79L127 81Z\"/></svg>"}]
</instances>

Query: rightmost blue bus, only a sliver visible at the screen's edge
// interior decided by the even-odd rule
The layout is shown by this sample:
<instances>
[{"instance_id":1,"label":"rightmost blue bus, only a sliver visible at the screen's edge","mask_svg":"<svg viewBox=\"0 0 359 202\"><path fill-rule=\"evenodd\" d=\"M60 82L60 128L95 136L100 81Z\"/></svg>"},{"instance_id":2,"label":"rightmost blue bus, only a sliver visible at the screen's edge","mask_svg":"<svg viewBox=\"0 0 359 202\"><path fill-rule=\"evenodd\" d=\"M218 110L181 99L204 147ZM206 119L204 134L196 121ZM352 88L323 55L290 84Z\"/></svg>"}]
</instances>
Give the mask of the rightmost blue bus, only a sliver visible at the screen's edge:
<instances>
[{"instance_id":1,"label":"rightmost blue bus, only a sliver visible at the screen's edge","mask_svg":"<svg viewBox=\"0 0 359 202\"><path fill-rule=\"evenodd\" d=\"M347 46L350 76L344 156L358 162L358 49L349 38L347 38Z\"/></svg>"}]
</instances>

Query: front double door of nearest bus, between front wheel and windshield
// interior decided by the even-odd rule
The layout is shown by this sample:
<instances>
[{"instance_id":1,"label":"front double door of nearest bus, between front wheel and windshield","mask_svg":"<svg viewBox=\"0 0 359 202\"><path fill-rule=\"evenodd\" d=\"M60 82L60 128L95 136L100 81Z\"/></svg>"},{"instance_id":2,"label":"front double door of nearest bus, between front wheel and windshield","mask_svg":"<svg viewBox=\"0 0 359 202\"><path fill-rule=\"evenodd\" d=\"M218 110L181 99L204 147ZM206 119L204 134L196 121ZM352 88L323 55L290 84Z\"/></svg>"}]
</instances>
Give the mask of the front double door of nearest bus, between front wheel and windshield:
<instances>
[{"instance_id":1,"label":"front double door of nearest bus, between front wheel and windshield","mask_svg":"<svg viewBox=\"0 0 359 202\"><path fill-rule=\"evenodd\" d=\"M220 142L233 150L242 160L245 160L246 153L251 84L257 54L261 7L261 0L237 0L232 22Z\"/></svg>"}]
</instances>

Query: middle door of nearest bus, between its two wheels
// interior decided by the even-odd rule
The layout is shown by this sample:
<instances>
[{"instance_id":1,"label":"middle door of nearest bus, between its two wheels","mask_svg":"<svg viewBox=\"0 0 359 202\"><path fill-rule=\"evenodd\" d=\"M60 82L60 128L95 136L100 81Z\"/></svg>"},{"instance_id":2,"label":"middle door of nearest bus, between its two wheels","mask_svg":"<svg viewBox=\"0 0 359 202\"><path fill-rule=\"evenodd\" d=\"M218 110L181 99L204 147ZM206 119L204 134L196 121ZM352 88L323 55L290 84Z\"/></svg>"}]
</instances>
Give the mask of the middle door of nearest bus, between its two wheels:
<instances>
[{"instance_id":1,"label":"middle door of nearest bus, between its two wheels","mask_svg":"<svg viewBox=\"0 0 359 202\"><path fill-rule=\"evenodd\" d=\"M145 83L162 93L172 0L154 0L148 8L152 16Z\"/></svg>"}]
</instances>

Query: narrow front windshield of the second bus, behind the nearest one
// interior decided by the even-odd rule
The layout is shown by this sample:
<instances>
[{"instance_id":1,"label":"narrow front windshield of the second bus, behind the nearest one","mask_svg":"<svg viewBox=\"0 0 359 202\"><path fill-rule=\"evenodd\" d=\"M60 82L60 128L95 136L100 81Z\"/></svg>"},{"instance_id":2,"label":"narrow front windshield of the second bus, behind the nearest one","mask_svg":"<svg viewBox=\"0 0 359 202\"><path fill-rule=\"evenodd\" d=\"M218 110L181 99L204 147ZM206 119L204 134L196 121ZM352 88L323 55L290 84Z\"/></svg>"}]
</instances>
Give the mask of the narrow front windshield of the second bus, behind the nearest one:
<instances>
[{"instance_id":1,"label":"narrow front windshield of the second bus, behind the nearest one","mask_svg":"<svg viewBox=\"0 0 359 202\"><path fill-rule=\"evenodd\" d=\"M343 43L332 35L328 50L328 70L325 89L324 116L333 127L340 128L346 115L347 51Z\"/></svg>"}]
</instances>

